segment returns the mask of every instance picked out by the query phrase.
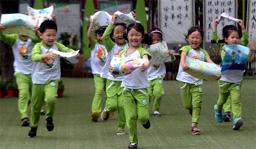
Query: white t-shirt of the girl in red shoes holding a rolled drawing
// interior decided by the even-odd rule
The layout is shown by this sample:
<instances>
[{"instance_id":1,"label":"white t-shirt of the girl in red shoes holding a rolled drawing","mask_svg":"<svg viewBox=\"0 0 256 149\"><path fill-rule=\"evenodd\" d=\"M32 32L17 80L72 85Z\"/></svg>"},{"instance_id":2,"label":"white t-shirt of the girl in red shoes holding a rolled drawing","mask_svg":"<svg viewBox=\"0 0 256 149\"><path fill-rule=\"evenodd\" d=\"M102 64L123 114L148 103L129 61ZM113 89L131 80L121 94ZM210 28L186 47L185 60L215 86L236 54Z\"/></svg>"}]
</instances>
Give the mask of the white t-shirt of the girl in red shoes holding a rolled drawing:
<instances>
[{"instance_id":1,"label":"white t-shirt of the girl in red shoes holding a rolled drawing","mask_svg":"<svg viewBox=\"0 0 256 149\"><path fill-rule=\"evenodd\" d=\"M206 59L209 59L209 54L204 49L200 48L199 51L194 50L190 45L183 46L178 52L181 55L182 51L187 53L187 56L194 59L199 59L202 61L205 61ZM179 71L177 75L177 80L181 82L186 82L189 84L202 84L202 79L195 78L188 74L187 72L182 70L182 65L180 63L179 65Z\"/></svg>"}]
</instances>

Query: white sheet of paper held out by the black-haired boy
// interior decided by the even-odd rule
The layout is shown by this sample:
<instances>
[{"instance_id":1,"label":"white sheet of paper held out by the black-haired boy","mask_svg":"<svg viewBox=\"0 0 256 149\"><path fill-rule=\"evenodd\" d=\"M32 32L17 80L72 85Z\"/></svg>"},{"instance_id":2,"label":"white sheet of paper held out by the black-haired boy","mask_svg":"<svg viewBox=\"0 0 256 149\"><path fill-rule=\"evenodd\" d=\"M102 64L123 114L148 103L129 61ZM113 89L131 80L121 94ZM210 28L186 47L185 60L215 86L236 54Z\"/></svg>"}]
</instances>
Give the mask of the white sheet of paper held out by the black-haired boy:
<instances>
[{"instance_id":1,"label":"white sheet of paper held out by the black-haired boy","mask_svg":"<svg viewBox=\"0 0 256 149\"><path fill-rule=\"evenodd\" d=\"M68 61L70 61L73 64L78 63L78 59L76 59L76 55L78 54L80 50L77 50L75 52L61 52L54 49L50 49L49 52L59 54L61 57L66 58Z\"/></svg>"}]
</instances>

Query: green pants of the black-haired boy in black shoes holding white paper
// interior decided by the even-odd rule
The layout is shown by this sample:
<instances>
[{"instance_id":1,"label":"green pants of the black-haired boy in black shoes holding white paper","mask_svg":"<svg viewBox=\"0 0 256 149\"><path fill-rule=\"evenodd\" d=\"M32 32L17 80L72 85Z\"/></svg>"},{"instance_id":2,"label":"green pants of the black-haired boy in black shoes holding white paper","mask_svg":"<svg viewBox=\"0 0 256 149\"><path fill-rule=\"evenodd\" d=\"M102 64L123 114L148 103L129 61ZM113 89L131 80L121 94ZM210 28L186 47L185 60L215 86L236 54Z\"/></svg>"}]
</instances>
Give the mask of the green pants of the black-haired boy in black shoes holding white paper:
<instances>
[{"instance_id":1,"label":"green pants of the black-haired boy in black shoes holding white paper","mask_svg":"<svg viewBox=\"0 0 256 149\"><path fill-rule=\"evenodd\" d=\"M57 102L59 80L51 80L47 84L33 84L31 98L31 127L37 127L40 119L40 110L46 103L47 117L53 117ZM44 103L45 102L45 103Z\"/></svg>"}]
</instances>

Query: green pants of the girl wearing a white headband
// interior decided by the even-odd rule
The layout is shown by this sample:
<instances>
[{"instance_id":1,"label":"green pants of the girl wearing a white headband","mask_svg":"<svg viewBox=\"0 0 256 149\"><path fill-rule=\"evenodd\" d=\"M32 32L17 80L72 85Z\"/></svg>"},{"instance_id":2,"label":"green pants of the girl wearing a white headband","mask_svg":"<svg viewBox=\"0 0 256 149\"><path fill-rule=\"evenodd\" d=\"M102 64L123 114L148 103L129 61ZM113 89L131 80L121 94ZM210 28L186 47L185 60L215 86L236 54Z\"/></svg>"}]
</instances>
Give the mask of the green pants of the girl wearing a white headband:
<instances>
[{"instance_id":1,"label":"green pants of the girl wearing a white headband","mask_svg":"<svg viewBox=\"0 0 256 149\"><path fill-rule=\"evenodd\" d=\"M153 111L159 111L160 110L160 104L161 104L161 99L164 95L164 90L163 90L163 78L155 78L154 80L149 80L148 81L150 84L150 87L148 88L148 97L149 97L149 102L150 98L153 96Z\"/></svg>"}]
</instances>

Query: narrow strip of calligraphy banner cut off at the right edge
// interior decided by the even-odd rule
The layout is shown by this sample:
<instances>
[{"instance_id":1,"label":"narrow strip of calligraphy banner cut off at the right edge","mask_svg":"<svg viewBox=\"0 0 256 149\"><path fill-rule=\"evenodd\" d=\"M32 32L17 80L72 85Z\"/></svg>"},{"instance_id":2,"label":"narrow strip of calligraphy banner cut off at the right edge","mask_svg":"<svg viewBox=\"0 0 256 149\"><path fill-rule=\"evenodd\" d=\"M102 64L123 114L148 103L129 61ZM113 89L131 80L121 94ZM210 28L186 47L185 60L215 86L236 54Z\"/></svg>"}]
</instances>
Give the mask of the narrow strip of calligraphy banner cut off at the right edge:
<instances>
[{"instance_id":1,"label":"narrow strip of calligraphy banner cut off at the right edge","mask_svg":"<svg viewBox=\"0 0 256 149\"><path fill-rule=\"evenodd\" d=\"M248 2L247 30L249 39L256 40L256 0Z\"/></svg>"}]
</instances>

